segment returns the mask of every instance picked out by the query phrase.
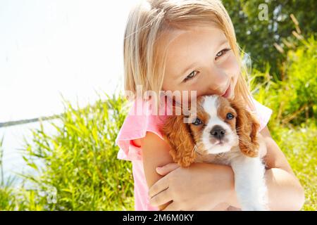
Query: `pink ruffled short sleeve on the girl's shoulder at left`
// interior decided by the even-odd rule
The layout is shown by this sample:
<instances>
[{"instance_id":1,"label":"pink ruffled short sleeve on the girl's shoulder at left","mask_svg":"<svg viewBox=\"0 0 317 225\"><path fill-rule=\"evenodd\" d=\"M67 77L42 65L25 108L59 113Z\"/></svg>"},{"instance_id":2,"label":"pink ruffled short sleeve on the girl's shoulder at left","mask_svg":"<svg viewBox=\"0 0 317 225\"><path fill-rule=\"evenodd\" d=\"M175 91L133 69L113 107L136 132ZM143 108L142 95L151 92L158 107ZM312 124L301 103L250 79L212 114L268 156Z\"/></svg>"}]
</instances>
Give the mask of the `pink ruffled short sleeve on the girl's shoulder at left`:
<instances>
[{"instance_id":1,"label":"pink ruffled short sleeve on the girl's shoulder at left","mask_svg":"<svg viewBox=\"0 0 317 225\"><path fill-rule=\"evenodd\" d=\"M119 146L117 158L120 160L142 160L142 150L135 146L132 140L141 139L146 136L147 131L163 136L159 130L166 117L164 115L152 115L147 101L135 100L116 138Z\"/></svg>"}]
</instances>

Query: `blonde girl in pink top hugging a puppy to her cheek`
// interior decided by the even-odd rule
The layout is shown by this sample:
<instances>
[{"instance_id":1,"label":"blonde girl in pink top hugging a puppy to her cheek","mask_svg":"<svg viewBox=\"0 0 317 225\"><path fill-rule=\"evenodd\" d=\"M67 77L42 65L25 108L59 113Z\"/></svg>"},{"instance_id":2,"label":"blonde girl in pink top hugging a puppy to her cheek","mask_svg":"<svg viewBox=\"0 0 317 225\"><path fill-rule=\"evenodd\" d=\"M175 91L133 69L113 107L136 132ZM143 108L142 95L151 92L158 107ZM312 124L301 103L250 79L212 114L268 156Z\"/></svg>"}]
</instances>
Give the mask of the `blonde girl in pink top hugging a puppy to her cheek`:
<instances>
[{"instance_id":1,"label":"blonde girl in pink top hugging a puppy to her cheek","mask_svg":"<svg viewBox=\"0 0 317 225\"><path fill-rule=\"evenodd\" d=\"M159 105L165 101L160 91L240 98L256 114L266 138L267 153L261 154L266 162L268 207L300 210L304 191L266 127L272 110L249 92L235 31L220 1L141 1L128 18L124 64L125 91L152 91L159 96ZM180 97L181 101L192 99ZM175 165L158 128L166 115L154 115L152 105L143 98L132 100L116 143L118 158L132 161L135 210L238 210L231 167ZM141 115L136 113L139 108Z\"/></svg>"}]
</instances>

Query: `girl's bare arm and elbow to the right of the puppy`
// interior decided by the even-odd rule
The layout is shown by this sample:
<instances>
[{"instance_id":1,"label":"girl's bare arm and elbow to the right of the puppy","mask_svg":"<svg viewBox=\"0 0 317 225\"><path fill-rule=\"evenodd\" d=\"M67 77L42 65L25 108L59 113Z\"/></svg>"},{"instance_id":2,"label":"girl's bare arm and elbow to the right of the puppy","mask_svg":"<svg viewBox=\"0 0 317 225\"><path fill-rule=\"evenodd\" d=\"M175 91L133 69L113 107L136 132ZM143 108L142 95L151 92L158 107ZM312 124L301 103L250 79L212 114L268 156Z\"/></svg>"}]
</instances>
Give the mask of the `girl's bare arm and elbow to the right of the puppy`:
<instances>
[{"instance_id":1,"label":"girl's bare arm and elbow to the right of the puppy","mask_svg":"<svg viewBox=\"0 0 317 225\"><path fill-rule=\"evenodd\" d=\"M266 185L270 210L300 210L304 205L304 189L294 175L282 150L272 139L268 127L260 132L266 141ZM237 195L232 190L230 205L239 207Z\"/></svg>"}]
</instances>

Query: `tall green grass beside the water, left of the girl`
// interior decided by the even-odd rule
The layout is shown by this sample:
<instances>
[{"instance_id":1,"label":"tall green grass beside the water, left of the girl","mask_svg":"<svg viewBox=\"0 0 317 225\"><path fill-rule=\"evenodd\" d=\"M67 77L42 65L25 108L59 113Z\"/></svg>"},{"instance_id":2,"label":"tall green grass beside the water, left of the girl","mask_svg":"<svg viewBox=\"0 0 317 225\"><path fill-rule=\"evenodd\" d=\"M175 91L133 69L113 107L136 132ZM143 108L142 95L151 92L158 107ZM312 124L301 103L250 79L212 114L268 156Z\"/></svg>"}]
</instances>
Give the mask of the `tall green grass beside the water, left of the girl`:
<instances>
[{"instance_id":1,"label":"tall green grass beside the water, left of the girl","mask_svg":"<svg viewBox=\"0 0 317 225\"><path fill-rule=\"evenodd\" d=\"M66 112L51 122L56 134L46 134L43 126L32 131L23 158L35 173L21 174L18 210L133 210L131 163L117 160L115 144L126 102L107 97L78 109L65 101ZM17 207L14 200L0 210Z\"/></svg>"}]
</instances>

